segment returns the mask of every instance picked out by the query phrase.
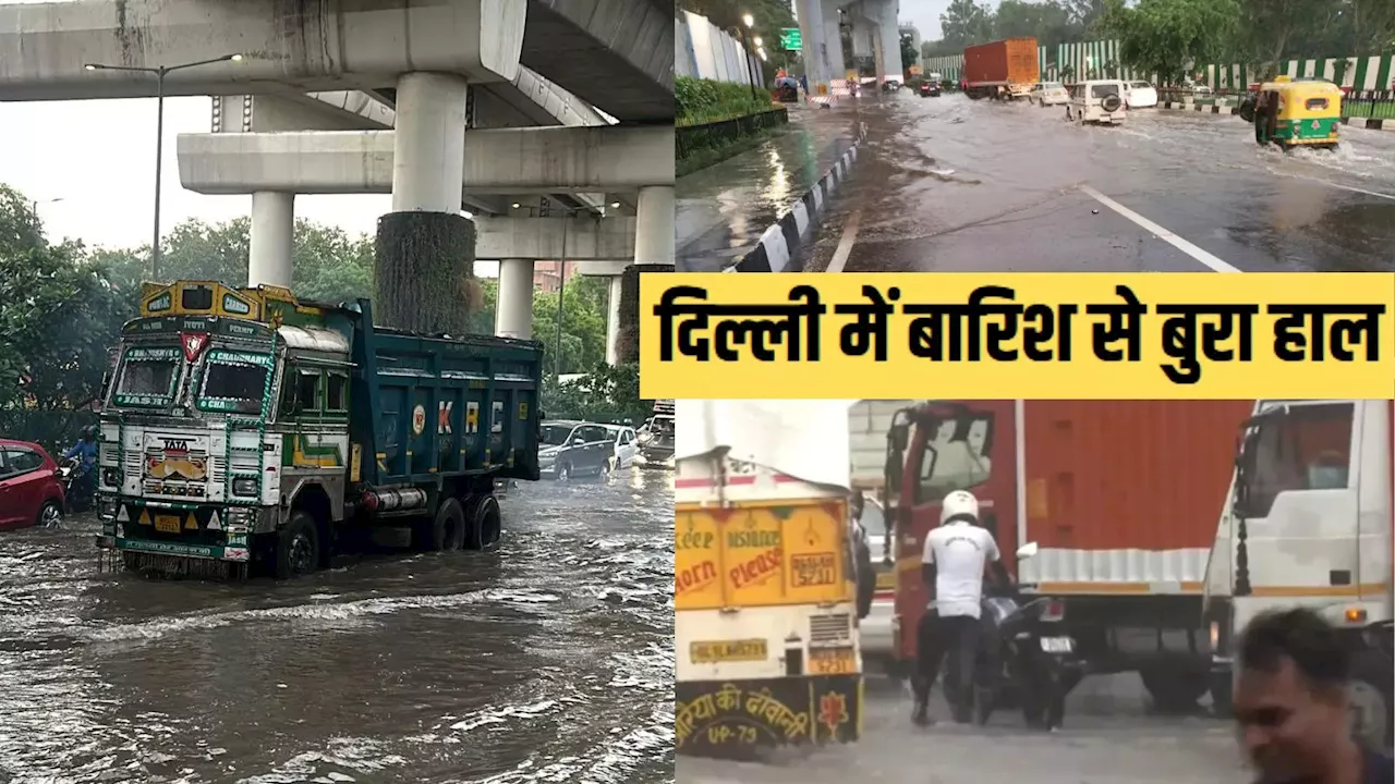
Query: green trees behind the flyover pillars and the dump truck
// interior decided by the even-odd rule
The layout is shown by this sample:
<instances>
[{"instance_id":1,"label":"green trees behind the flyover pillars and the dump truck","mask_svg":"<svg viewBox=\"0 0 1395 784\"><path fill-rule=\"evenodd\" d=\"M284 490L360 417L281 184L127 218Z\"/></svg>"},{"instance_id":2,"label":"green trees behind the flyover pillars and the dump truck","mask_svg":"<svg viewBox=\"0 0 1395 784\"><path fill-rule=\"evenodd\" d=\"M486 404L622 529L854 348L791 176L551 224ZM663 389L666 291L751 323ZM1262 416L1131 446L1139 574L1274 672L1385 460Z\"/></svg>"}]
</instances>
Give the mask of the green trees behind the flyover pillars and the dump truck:
<instances>
[{"instance_id":1,"label":"green trees behind the flyover pillars and the dump truck","mask_svg":"<svg viewBox=\"0 0 1395 784\"><path fill-rule=\"evenodd\" d=\"M247 279L247 219L215 226L190 220L166 237L160 278L239 285ZM371 237L297 220L293 252L297 296L329 303L370 296ZM102 393L109 352L121 325L137 315L148 271L148 248L49 244L32 202L0 186L0 435L59 448L93 420L91 406ZM498 282L484 280L481 287L485 306L472 314L470 329L492 335ZM562 374L591 368L594 381L552 393L575 409L572 416L608 419L619 416L611 412L639 407L638 375L631 384L619 371L594 370L605 360L608 294L601 278L568 283L558 354L558 294L534 292L533 329L545 346L548 377L558 356Z\"/></svg>"}]
</instances>

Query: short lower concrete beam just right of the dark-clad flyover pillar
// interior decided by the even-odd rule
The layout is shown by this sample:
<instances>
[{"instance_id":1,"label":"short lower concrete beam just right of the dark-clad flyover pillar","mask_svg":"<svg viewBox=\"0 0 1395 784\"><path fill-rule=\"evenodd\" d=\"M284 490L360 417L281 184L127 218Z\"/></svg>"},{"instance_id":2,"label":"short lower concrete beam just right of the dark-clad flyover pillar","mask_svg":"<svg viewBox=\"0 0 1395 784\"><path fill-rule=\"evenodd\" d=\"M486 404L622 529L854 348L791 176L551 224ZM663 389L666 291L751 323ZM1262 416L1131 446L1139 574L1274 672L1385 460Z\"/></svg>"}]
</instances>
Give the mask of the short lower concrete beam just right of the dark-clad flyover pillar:
<instances>
[{"instance_id":1,"label":"short lower concrete beam just right of the dark-clad flyover pillar","mask_svg":"<svg viewBox=\"0 0 1395 784\"><path fill-rule=\"evenodd\" d=\"M474 219L474 258L594 261L619 275L635 258L633 218L480 218ZM562 233L566 233L565 244ZM625 261L629 259L629 261ZM583 275L600 275L586 272Z\"/></svg>"}]
</instances>

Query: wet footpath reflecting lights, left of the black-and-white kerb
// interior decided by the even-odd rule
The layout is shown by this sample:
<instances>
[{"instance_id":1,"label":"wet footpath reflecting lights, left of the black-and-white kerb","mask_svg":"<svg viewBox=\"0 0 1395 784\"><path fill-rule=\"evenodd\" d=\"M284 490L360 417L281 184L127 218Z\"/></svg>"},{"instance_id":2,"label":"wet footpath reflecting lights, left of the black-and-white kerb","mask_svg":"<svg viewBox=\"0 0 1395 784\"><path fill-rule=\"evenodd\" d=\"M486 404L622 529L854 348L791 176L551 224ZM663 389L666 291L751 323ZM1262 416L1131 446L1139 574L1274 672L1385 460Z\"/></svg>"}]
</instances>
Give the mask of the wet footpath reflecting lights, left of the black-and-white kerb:
<instances>
[{"instance_id":1,"label":"wet footpath reflecting lights, left of the black-and-white kerb","mask_svg":"<svg viewBox=\"0 0 1395 784\"><path fill-rule=\"evenodd\" d=\"M855 110L791 106L790 124L778 135L679 177L678 271L717 272L751 251L852 145L855 121Z\"/></svg>"}]
</instances>

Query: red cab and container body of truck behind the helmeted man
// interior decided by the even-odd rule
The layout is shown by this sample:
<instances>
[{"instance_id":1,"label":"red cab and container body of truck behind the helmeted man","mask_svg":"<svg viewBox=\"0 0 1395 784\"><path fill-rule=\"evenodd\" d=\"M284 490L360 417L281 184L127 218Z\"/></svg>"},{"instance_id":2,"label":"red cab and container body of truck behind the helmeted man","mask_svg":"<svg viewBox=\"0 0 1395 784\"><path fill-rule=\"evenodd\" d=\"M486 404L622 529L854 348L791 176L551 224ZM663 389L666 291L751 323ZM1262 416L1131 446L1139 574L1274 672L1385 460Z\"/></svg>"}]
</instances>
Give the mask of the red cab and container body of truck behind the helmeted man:
<instances>
[{"instance_id":1,"label":"red cab and container body of truck behind the helmeted man","mask_svg":"<svg viewBox=\"0 0 1395 784\"><path fill-rule=\"evenodd\" d=\"M1004 565L1035 541L1055 555L1034 559L1041 593L1078 601L1129 603L1163 591L1179 618L1200 619L1207 552L1216 536L1240 425L1253 400L953 400L953 424L936 437L911 432L896 530L900 654L914 660L915 624L928 596L919 564L940 505L917 498L936 473L928 442L946 460L971 452L978 467L961 483L982 505ZM967 446L965 446L967 444ZM963 462L957 465L964 465ZM1166 586L1163 586L1166 583ZM1190 604L1196 604L1191 610ZM1127 608L1120 610L1127 614ZM1067 612L1070 615L1070 612ZM1110 625L1112 621L1101 621Z\"/></svg>"}]
</instances>

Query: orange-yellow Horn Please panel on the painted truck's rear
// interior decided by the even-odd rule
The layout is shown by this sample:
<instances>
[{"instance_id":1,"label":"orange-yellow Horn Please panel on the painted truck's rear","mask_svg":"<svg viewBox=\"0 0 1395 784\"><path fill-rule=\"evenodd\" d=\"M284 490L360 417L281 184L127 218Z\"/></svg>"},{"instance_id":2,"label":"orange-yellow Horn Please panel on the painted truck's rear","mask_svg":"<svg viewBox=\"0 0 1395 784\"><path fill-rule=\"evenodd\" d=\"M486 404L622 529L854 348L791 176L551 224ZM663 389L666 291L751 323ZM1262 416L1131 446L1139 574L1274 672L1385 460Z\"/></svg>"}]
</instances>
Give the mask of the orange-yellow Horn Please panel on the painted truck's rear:
<instances>
[{"instance_id":1,"label":"orange-yellow Horn Please panel on the painted truck's rear","mask_svg":"<svg viewBox=\"0 0 1395 784\"><path fill-rule=\"evenodd\" d=\"M852 601L843 501L679 506L674 523L675 610Z\"/></svg>"}]
</instances>

